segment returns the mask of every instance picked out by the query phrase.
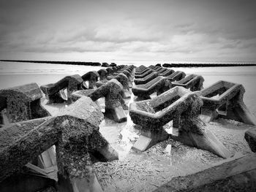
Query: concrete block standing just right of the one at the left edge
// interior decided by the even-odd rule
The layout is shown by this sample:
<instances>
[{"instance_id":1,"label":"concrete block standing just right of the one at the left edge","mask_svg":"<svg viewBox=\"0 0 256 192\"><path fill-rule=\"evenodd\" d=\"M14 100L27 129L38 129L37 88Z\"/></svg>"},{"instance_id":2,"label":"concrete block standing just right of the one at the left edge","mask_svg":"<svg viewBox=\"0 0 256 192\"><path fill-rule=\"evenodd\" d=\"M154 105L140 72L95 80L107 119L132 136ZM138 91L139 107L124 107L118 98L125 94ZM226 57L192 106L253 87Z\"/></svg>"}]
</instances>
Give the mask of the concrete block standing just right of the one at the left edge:
<instances>
[{"instance_id":1,"label":"concrete block standing just right of the one at the left edge","mask_svg":"<svg viewBox=\"0 0 256 192\"><path fill-rule=\"evenodd\" d=\"M70 101L70 94L73 91L78 91L81 88L83 79L79 74L66 76L56 83L42 85L40 88L45 93L48 104L61 103L65 100ZM67 96L64 94L64 89L67 88Z\"/></svg>"}]
</instances>

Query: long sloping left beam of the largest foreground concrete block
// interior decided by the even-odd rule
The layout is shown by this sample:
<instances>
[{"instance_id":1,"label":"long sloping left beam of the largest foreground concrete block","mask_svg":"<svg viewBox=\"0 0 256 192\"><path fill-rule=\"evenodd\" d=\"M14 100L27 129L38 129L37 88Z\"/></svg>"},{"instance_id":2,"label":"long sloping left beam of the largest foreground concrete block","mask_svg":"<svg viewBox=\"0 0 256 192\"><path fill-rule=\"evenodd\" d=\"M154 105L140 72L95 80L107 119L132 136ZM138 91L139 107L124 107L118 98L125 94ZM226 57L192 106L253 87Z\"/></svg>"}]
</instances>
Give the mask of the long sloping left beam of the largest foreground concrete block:
<instances>
[{"instance_id":1,"label":"long sloping left beam of the largest foreground concrete block","mask_svg":"<svg viewBox=\"0 0 256 192\"><path fill-rule=\"evenodd\" d=\"M0 132L1 182L54 145L59 131L53 128L53 118L46 118L12 123Z\"/></svg>"}]
</instances>

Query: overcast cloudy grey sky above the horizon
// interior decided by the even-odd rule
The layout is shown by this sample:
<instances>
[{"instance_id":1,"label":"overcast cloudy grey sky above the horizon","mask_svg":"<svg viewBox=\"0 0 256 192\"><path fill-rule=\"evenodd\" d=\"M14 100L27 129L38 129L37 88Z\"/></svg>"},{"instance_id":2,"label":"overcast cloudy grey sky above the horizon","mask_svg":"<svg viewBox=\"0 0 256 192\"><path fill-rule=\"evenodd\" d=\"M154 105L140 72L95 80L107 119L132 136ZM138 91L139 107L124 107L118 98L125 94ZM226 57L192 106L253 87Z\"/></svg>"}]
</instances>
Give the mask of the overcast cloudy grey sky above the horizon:
<instances>
[{"instance_id":1,"label":"overcast cloudy grey sky above the horizon","mask_svg":"<svg viewBox=\"0 0 256 192\"><path fill-rule=\"evenodd\" d=\"M0 0L0 59L256 61L255 0Z\"/></svg>"}]
</instances>

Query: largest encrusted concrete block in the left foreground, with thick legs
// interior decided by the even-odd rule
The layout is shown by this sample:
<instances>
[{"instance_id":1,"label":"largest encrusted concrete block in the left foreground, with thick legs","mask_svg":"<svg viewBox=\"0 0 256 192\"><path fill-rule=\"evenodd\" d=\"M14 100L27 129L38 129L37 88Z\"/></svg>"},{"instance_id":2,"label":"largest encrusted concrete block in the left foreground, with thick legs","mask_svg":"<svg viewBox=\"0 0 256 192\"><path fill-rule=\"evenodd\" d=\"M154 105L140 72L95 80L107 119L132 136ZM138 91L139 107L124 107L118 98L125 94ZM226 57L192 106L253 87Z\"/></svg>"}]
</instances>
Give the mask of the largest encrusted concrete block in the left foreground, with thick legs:
<instances>
[{"instance_id":1,"label":"largest encrusted concrete block in the left foreground, with thick legs","mask_svg":"<svg viewBox=\"0 0 256 192\"><path fill-rule=\"evenodd\" d=\"M0 131L0 183L56 145L60 191L76 191L75 188L82 191L84 186L91 188L93 183L89 181L95 179L91 155L100 153L107 161L118 159L116 151L99 133L102 119L99 107L88 97L83 97L56 117L4 126Z\"/></svg>"}]
</instances>

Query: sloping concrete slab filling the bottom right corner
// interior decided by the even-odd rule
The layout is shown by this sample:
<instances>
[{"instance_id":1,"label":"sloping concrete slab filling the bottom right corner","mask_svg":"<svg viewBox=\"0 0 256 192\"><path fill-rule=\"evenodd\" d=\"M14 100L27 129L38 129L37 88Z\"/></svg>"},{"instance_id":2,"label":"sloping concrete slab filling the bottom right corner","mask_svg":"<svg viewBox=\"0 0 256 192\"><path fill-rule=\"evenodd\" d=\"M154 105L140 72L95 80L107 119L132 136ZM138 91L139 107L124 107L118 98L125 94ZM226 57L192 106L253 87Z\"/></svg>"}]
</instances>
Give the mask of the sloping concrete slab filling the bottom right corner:
<instances>
[{"instance_id":1,"label":"sloping concrete slab filling the bottom right corner","mask_svg":"<svg viewBox=\"0 0 256 192\"><path fill-rule=\"evenodd\" d=\"M174 177L156 191L256 191L256 154Z\"/></svg>"}]
</instances>

